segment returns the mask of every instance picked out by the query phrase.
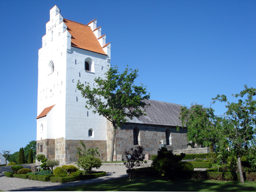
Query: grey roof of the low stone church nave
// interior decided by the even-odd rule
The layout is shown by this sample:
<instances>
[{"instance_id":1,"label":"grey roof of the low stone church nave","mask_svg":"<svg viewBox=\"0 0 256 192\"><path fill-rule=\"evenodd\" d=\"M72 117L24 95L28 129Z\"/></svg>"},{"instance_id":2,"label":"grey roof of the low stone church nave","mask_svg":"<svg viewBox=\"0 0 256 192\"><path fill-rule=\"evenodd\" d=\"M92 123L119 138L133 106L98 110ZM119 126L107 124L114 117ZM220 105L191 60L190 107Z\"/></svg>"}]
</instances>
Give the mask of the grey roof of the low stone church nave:
<instances>
[{"instance_id":1,"label":"grey roof of the low stone church nave","mask_svg":"<svg viewBox=\"0 0 256 192\"><path fill-rule=\"evenodd\" d=\"M129 119L127 123L140 123L149 125L164 125L164 126L182 126L179 119L180 108L182 105L171 104L169 102L145 100L146 104L150 104L145 108L146 116Z\"/></svg>"}]
</instances>

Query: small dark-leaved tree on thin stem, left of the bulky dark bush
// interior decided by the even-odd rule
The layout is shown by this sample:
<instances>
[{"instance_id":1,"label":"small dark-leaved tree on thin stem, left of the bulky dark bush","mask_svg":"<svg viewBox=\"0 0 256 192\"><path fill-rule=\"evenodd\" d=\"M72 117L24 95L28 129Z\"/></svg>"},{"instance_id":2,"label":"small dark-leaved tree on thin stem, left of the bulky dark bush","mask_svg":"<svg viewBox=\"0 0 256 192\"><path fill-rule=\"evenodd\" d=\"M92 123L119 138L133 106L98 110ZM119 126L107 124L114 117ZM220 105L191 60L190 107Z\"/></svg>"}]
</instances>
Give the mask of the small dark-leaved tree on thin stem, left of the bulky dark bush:
<instances>
[{"instance_id":1,"label":"small dark-leaved tree on thin stem, left of the bulky dark bush","mask_svg":"<svg viewBox=\"0 0 256 192\"><path fill-rule=\"evenodd\" d=\"M143 147L138 146L137 149L130 148L130 151L125 151L124 155L126 158L123 158L123 164L127 168L127 173L129 179L132 180L132 170L136 166L140 166L140 161L145 159L145 155L143 154Z\"/></svg>"}]
</instances>

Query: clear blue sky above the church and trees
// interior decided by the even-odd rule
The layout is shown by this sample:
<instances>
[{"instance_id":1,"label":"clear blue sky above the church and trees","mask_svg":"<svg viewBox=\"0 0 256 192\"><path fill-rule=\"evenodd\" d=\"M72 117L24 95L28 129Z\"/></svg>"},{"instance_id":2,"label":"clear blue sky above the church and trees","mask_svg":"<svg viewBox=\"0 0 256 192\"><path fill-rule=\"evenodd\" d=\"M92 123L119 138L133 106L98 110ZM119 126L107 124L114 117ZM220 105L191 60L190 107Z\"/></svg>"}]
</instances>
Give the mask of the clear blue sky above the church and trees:
<instances>
[{"instance_id":1,"label":"clear blue sky above the church and trees","mask_svg":"<svg viewBox=\"0 0 256 192\"><path fill-rule=\"evenodd\" d=\"M256 87L256 1L0 0L0 152L36 140L37 63L49 9L87 24L97 17L111 64L138 69L151 99L209 106ZM216 113L225 112L214 105Z\"/></svg>"}]
</instances>

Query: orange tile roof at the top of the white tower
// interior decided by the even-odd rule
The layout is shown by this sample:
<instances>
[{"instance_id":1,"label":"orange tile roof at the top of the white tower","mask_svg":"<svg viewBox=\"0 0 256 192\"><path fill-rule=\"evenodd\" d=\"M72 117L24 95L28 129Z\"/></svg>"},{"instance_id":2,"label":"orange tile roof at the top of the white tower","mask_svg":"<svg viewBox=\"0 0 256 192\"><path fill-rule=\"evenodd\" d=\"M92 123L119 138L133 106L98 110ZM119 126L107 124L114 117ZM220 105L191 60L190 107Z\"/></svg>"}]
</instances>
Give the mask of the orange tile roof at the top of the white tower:
<instances>
[{"instance_id":1,"label":"orange tile roof at the top of the white tower","mask_svg":"<svg viewBox=\"0 0 256 192\"><path fill-rule=\"evenodd\" d=\"M97 38L95 37L93 30L91 30L91 27L85 24L73 22L72 20L68 19L63 19L63 22L65 22L67 30L72 35L72 47L85 49L87 51L92 51L98 54L106 55L101 45L99 44Z\"/></svg>"}]
</instances>

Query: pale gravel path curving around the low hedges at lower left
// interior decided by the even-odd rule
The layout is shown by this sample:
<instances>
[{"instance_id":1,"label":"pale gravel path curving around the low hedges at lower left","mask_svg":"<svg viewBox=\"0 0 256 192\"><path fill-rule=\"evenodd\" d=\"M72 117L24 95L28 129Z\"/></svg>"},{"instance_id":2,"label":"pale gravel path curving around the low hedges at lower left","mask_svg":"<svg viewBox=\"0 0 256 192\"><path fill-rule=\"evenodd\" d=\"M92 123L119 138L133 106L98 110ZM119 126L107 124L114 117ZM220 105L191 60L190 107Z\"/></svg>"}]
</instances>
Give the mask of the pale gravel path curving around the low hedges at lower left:
<instances>
[{"instance_id":1,"label":"pale gravel path curving around the low hedges at lower left","mask_svg":"<svg viewBox=\"0 0 256 192\"><path fill-rule=\"evenodd\" d=\"M94 169L96 170L96 169ZM107 172L105 177L98 177L95 179L81 180L69 183L52 183L52 182L40 182L29 179L19 179L14 177L6 177L1 172L0 167L0 190L2 191L44 191L44 190L55 190L63 187L79 186L81 184L97 183L106 180L116 179L119 177L125 177L126 167L125 166L109 166L102 165L99 171Z\"/></svg>"}]
</instances>

